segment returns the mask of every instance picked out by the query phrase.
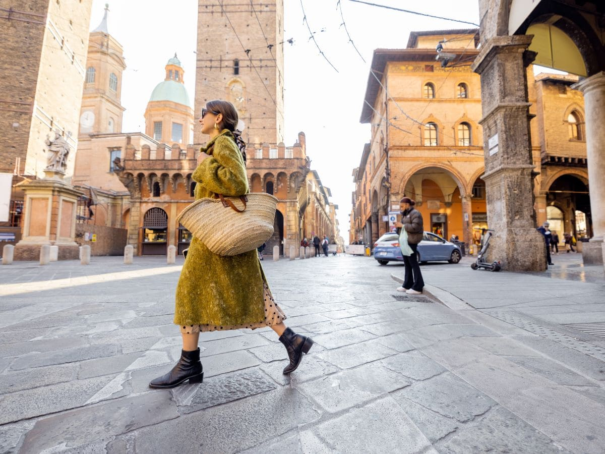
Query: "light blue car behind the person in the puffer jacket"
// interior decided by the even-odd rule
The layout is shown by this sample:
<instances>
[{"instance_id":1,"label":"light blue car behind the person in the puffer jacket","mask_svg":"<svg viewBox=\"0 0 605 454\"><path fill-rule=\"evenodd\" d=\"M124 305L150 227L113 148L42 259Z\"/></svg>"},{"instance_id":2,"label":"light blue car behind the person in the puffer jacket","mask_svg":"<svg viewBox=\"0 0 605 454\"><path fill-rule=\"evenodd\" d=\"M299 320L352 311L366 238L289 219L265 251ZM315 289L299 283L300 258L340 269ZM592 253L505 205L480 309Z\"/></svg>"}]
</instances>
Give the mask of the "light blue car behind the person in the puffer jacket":
<instances>
[{"instance_id":1,"label":"light blue car behind the person in the puffer jacket","mask_svg":"<svg viewBox=\"0 0 605 454\"><path fill-rule=\"evenodd\" d=\"M450 263L460 262L462 252L454 243L444 240L439 235L424 232L422 241L418 243L418 262L434 262L447 260ZM399 235L396 233L385 233L374 243L374 258L381 265L388 262L403 262L404 256L399 249Z\"/></svg>"}]
</instances>

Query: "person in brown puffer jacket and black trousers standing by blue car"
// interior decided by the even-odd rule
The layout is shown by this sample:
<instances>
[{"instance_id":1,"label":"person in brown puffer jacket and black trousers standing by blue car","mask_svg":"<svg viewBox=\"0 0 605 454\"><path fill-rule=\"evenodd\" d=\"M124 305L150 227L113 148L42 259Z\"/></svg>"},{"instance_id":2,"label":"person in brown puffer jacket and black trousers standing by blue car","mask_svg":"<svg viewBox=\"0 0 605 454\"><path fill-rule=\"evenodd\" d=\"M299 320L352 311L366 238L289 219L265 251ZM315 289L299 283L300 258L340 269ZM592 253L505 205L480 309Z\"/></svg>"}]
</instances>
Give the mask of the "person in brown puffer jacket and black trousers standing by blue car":
<instances>
[{"instance_id":1,"label":"person in brown puffer jacket and black trousers standing by blue car","mask_svg":"<svg viewBox=\"0 0 605 454\"><path fill-rule=\"evenodd\" d=\"M410 295L421 294L422 288L424 288L424 280L422 280L422 273L420 272L418 256L416 254L418 243L422 241L424 226L422 225L422 214L414 208L414 205L416 205L416 202L411 200L410 197L401 199L399 201L399 209L401 209L403 219L401 222L395 223L397 234L401 233L402 228L407 232L408 245L410 245L413 251L411 255L404 255L405 280L403 285L397 288L397 291Z\"/></svg>"}]
</instances>

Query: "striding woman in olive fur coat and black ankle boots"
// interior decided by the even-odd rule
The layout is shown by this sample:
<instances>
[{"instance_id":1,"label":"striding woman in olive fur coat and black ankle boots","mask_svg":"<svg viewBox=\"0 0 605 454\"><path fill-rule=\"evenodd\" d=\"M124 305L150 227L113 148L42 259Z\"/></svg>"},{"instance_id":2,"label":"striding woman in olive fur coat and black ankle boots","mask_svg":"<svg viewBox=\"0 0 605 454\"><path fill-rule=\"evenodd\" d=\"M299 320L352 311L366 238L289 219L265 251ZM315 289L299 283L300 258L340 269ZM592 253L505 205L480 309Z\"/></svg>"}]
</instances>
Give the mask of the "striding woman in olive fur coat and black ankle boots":
<instances>
[{"instance_id":1,"label":"striding woman in olive fur coat and black ankle boots","mask_svg":"<svg viewBox=\"0 0 605 454\"><path fill-rule=\"evenodd\" d=\"M237 123L237 110L230 102L214 100L202 109L201 132L208 134L210 140L201 148L192 176L197 182L196 200L215 194L243 196L248 192L241 153L245 144L235 130ZM296 370L313 341L286 327L284 320L286 315L273 300L256 250L221 257L194 237L175 298L174 323L183 337L181 358L170 372L152 380L149 387L171 388L187 380L203 380L198 339L204 331L270 326L286 347L290 363L283 373L289 374Z\"/></svg>"}]
</instances>

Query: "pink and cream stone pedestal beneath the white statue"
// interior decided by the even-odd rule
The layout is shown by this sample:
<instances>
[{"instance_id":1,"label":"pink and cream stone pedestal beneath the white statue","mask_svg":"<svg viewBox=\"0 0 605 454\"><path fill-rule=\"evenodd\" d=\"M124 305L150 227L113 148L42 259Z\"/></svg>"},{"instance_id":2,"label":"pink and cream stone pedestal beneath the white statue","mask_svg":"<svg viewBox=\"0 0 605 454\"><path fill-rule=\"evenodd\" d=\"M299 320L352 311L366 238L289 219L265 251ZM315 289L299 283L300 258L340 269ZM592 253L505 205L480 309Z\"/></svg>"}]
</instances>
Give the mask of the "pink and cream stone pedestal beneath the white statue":
<instances>
[{"instance_id":1,"label":"pink and cream stone pedestal beneath the white statue","mask_svg":"<svg viewBox=\"0 0 605 454\"><path fill-rule=\"evenodd\" d=\"M38 260L42 245L59 246L59 260L78 258L76 237L77 199L83 192L62 180L62 173L45 171L41 180L25 180L21 241L15 245L15 260Z\"/></svg>"}]
</instances>

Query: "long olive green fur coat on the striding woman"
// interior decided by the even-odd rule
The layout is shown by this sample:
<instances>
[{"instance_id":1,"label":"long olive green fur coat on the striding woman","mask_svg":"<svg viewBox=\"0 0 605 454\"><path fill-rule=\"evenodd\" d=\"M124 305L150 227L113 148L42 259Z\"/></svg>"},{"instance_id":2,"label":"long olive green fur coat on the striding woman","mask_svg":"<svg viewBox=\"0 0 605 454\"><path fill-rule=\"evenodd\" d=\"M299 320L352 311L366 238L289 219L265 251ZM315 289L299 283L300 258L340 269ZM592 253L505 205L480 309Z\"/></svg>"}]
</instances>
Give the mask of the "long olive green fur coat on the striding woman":
<instances>
[{"instance_id":1,"label":"long olive green fur coat on the striding woman","mask_svg":"<svg viewBox=\"0 0 605 454\"><path fill-rule=\"evenodd\" d=\"M201 151L211 147L211 156L203 160L192 175L197 182L195 200L214 194L231 197L246 194L246 168L233 134L223 130ZM221 257L194 238L178 280L174 323L212 324L220 329L261 322L264 320L264 281L256 250Z\"/></svg>"}]
</instances>

